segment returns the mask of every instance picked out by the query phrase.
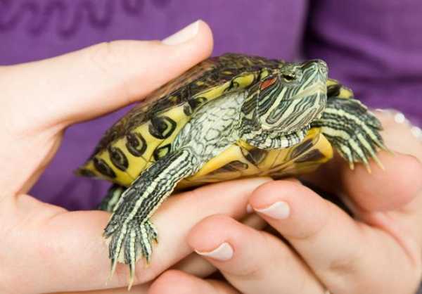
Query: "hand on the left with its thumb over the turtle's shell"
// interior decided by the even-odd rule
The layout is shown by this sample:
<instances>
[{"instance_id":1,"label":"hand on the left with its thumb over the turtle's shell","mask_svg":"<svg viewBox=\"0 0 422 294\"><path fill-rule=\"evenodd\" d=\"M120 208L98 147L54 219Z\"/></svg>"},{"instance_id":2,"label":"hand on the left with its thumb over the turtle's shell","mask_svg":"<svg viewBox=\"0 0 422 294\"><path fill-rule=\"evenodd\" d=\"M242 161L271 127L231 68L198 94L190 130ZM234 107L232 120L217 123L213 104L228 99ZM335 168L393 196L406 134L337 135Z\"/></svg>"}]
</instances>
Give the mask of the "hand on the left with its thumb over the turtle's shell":
<instances>
[{"instance_id":1,"label":"hand on the left with its thumb over the turtle's shell","mask_svg":"<svg viewBox=\"0 0 422 294\"><path fill-rule=\"evenodd\" d=\"M66 127L132 103L207 57L212 50L210 29L202 22L196 25L179 39L163 43L116 41L0 67L0 293L127 285L128 272L122 264L106 285L110 264L101 234L108 213L68 212L26 193L53 158ZM155 216L162 242L155 248L151 267L143 269L138 263L135 283L150 281L172 266L209 274L208 264L189 257L188 230L207 215L245 215L250 191L263 181L204 187L167 201ZM136 290L146 289L147 284Z\"/></svg>"}]
</instances>

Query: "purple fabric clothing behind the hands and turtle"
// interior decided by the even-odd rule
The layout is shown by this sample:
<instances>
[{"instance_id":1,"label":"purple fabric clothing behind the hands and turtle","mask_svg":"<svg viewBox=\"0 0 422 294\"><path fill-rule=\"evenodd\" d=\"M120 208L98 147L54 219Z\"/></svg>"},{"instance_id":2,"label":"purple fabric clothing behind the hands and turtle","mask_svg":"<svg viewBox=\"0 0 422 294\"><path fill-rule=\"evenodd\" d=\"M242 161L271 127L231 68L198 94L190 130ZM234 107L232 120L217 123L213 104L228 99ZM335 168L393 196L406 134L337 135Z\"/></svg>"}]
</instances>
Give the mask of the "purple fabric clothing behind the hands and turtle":
<instances>
[{"instance_id":1,"label":"purple fabric clothing behind the hands and turtle","mask_svg":"<svg viewBox=\"0 0 422 294\"><path fill-rule=\"evenodd\" d=\"M323 58L331 77L369 106L422 122L420 0L0 0L0 65L101 41L162 39L198 18L212 27L214 55ZM94 207L109 184L72 170L125 111L70 127L32 195L72 210Z\"/></svg>"}]
</instances>

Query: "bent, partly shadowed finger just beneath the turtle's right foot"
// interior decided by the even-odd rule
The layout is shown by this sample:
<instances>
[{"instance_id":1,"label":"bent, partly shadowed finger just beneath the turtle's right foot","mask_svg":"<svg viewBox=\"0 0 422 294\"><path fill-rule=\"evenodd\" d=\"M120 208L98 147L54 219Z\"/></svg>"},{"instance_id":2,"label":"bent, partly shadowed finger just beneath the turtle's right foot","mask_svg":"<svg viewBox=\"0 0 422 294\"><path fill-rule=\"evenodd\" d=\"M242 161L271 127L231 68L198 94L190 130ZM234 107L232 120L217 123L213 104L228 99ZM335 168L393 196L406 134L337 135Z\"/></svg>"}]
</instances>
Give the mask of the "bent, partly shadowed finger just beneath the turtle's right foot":
<instances>
[{"instance_id":1,"label":"bent, partly shadowed finger just beneath the turtle's right foot","mask_svg":"<svg viewBox=\"0 0 422 294\"><path fill-rule=\"evenodd\" d=\"M350 198L352 210L395 210L414 200L422 189L422 165L411 155L378 154L384 170L370 162L371 173L363 165L350 170L343 158L335 158L316 174L303 177L326 191ZM345 200L347 201L347 199Z\"/></svg>"}]
</instances>

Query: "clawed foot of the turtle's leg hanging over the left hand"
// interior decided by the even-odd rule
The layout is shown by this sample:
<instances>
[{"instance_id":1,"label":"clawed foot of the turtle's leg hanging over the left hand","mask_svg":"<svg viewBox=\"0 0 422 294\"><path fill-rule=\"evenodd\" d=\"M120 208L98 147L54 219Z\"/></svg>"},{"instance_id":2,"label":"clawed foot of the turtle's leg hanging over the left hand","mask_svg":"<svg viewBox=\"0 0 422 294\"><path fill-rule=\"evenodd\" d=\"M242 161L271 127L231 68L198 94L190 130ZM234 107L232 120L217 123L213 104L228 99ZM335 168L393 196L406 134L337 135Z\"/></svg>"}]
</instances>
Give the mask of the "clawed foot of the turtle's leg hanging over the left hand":
<instances>
[{"instance_id":1,"label":"clawed foot of the turtle's leg hanging over the left hand","mask_svg":"<svg viewBox=\"0 0 422 294\"><path fill-rule=\"evenodd\" d=\"M128 264L128 290L130 290L134 283L136 262L140 257L145 258L146 266L151 262L153 242L158 243L157 229L149 219L141 223L132 219L116 225L112 218L103 235L105 238L110 238L108 244L108 257L111 261L109 280L113 277L117 262Z\"/></svg>"}]
</instances>

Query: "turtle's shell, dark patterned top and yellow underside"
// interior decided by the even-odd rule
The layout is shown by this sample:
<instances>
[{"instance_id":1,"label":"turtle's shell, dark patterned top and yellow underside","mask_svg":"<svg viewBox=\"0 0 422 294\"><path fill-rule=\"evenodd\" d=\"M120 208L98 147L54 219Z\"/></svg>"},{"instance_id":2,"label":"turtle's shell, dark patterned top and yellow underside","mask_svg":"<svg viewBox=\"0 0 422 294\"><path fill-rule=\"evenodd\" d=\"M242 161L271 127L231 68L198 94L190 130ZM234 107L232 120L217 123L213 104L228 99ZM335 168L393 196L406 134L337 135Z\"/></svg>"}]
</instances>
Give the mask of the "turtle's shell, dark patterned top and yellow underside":
<instances>
[{"instance_id":1,"label":"turtle's shell, dark patterned top and yellow underside","mask_svg":"<svg viewBox=\"0 0 422 294\"><path fill-rule=\"evenodd\" d=\"M146 167L170 152L172 142L198 107L226 93L247 89L262 70L282 64L282 60L233 53L199 63L113 124L77 174L129 186ZM328 96L352 96L349 89L333 80L328 80L327 86ZM264 151L238 141L182 180L178 188L238 177L302 174L332 155L330 143L318 128L310 129L301 143L281 150Z\"/></svg>"}]
</instances>

